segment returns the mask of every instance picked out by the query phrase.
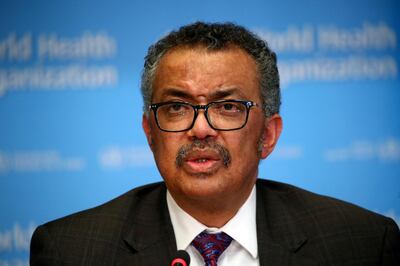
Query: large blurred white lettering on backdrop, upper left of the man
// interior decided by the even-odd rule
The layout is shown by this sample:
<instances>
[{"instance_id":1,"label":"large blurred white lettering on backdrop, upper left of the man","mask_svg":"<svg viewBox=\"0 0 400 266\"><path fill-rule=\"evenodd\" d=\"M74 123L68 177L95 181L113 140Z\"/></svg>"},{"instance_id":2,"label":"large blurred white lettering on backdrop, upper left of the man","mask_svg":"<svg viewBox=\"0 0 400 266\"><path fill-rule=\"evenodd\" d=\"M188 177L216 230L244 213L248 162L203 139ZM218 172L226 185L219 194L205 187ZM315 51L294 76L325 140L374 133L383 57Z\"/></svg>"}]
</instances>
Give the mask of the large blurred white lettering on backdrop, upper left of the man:
<instances>
[{"instance_id":1,"label":"large blurred white lettering on backdrop, upper left of the man","mask_svg":"<svg viewBox=\"0 0 400 266\"><path fill-rule=\"evenodd\" d=\"M12 90L115 88L118 70L110 61L116 55L117 41L106 32L11 32L0 39L0 96Z\"/></svg>"}]
</instances>

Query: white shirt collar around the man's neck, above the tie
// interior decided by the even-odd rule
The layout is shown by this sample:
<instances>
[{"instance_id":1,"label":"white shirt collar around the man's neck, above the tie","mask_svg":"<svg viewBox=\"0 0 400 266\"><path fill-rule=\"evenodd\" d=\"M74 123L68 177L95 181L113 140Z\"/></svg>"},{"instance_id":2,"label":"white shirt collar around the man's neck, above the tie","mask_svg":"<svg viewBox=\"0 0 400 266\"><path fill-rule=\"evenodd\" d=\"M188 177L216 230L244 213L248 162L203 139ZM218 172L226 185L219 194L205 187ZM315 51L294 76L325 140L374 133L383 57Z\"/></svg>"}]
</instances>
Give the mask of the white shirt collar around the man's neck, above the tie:
<instances>
[{"instance_id":1,"label":"white shirt collar around the man's neck, above the tie","mask_svg":"<svg viewBox=\"0 0 400 266\"><path fill-rule=\"evenodd\" d=\"M242 207L240 207L235 216L221 228L208 228L204 224L198 222L178 206L169 191L167 191L167 205L175 232L178 250L186 249L192 240L204 230L211 233L223 231L247 250L253 258L257 258L258 246L255 186L246 202Z\"/></svg>"}]
</instances>

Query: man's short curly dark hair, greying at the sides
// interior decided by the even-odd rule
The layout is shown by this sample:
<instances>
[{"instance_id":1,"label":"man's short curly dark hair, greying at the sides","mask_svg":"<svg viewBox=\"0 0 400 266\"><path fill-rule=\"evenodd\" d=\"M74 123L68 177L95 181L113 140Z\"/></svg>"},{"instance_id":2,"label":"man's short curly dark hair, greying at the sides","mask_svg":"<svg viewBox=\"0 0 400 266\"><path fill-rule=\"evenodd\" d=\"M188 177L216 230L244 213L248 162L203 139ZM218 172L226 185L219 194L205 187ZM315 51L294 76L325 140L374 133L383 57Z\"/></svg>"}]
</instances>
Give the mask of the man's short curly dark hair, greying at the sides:
<instances>
[{"instance_id":1,"label":"man's short curly dark hair, greying at the sides","mask_svg":"<svg viewBox=\"0 0 400 266\"><path fill-rule=\"evenodd\" d=\"M148 112L153 94L153 81L161 58L177 47L203 46L223 50L235 46L246 51L256 62L260 94L265 115L279 113L281 95L276 54L268 43L246 28L233 23L196 22L172 31L149 47L142 73L141 91L144 111Z\"/></svg>"}]
</instances>

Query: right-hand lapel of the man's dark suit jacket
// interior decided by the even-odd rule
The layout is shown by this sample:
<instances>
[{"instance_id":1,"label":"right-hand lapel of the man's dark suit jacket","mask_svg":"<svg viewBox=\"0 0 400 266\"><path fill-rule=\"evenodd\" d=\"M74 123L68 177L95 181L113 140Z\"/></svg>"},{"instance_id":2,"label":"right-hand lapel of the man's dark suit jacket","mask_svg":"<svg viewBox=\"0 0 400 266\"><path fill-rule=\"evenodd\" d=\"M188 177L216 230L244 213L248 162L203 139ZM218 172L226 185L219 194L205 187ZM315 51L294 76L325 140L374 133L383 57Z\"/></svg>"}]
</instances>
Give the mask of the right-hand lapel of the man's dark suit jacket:
<instances>
[{"instance_id":1,"label":"right-hand lapel of the man's dark suit jacket","mask_svg":"<svg viewBox=\"0 0 400 266\"><path fill-rule=\"evenodd\" d=\"M307 237L293 219L285 191L275 191L266 180L257 180L257 241L261 266L315 265L301 249Z\"/></svg>"}]
</instances>

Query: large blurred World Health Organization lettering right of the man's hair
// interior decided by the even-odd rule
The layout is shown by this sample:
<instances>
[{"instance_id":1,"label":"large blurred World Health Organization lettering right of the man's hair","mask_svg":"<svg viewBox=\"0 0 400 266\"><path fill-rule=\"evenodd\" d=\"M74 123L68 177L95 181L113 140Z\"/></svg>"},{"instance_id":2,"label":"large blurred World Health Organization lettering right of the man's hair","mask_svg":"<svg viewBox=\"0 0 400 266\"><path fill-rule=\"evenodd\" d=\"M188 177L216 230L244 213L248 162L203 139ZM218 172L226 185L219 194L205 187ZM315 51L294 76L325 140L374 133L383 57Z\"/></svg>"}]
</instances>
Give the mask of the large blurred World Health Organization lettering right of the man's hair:
<instances>
[{"instance_id":1,"label":"large blurred World Health Organization lettering right of the man's hair","mask_svg":"<svg viewBox=\"0 0 400 266\"><path fill-rule=\"evenodd\" d=\"M255 30L278 54L282 87L304 81L397 78L397 36L385 22L359 27L289 26L286 31ZM301 59L290 59L291 55ZM304 55L304 56L303 56Z\"/></svg>"}]
</instances>

